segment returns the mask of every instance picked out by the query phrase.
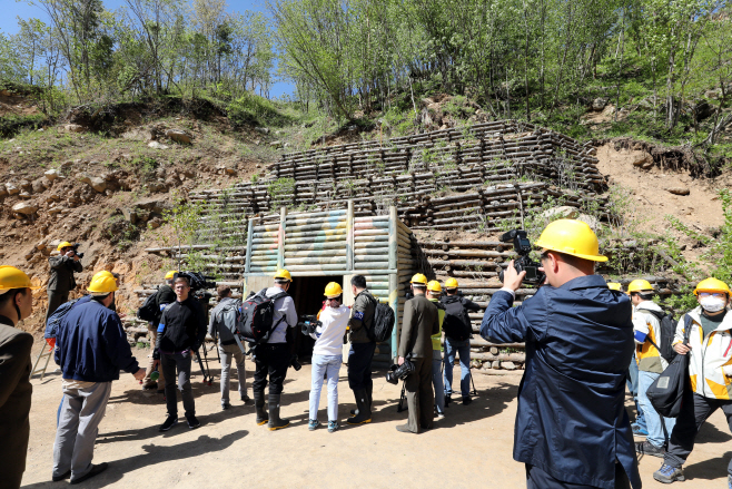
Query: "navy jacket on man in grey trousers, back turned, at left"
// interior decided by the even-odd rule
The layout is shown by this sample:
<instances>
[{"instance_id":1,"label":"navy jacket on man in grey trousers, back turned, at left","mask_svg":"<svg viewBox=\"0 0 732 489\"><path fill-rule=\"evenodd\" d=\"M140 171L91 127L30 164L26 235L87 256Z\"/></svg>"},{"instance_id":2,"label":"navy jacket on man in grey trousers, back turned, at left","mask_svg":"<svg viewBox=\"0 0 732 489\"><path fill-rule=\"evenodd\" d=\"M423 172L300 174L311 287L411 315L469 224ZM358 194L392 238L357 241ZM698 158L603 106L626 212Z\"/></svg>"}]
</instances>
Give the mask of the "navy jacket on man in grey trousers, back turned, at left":
<instances>
[{"instance_id":1,"label":"navy jacket on man in grey trousers, back turned, at left","mask_svg":"<svg viewBox=\"0 0 732 489\"><path fill-rule=\"evenodd\" d=\"M75 305L56 335L56 363L63 379L111 382L139 370L116 312L98 301Z\"/></svg>"}]
</instances>

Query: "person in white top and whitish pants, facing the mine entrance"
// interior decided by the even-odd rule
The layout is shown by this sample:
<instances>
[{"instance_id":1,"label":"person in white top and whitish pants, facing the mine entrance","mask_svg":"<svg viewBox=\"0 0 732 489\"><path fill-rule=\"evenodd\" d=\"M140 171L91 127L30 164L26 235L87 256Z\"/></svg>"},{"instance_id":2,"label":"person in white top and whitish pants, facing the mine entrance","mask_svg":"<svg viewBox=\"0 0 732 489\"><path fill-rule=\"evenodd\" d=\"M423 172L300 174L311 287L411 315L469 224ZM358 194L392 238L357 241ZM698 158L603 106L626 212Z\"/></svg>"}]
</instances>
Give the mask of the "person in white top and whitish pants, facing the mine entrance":
<instances>
[{"instance_id":1,"label":"person in white top and whitish pants, facing the mine entrance","mask_svg":"<svg viewBox=\"0 0 732 489\"><path fill-rule=\"evenodd\" d=\"M350 310L342 305L343 288L336 282L325 287L325 307L318 314L322 325L310 333L313 346L313 385L310 388L310 420L308 429L315 430L324 375L328 379L328 432L338 429L338 372L343 363L343 339L346 334Z\"/></svg>"}]
</instances>

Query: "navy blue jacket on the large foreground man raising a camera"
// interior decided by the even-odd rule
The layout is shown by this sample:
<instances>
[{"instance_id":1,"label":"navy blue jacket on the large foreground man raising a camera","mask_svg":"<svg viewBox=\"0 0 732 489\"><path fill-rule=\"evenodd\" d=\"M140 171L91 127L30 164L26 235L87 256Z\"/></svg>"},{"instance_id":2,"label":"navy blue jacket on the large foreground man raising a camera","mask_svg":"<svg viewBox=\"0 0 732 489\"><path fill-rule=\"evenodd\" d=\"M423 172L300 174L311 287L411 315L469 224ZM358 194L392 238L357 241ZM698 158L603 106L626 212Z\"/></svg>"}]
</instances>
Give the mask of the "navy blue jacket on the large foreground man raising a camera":
<instances>
[{"instance_id":1,"label":"navy blue jacket on the large foreground man raising a camera","mask_svg":"<svg viewBox=\"0 0 732 489\"><path fill-rule=\"evenodd\" d=\"M617 459L640 489L624 408L634 349L627 296L590 275L561 287L543 286L522 305L512 304L506 291L493 295L481 336L526 342L514 460L564 482L613 489Z\"/></svg>"}]
</instances>

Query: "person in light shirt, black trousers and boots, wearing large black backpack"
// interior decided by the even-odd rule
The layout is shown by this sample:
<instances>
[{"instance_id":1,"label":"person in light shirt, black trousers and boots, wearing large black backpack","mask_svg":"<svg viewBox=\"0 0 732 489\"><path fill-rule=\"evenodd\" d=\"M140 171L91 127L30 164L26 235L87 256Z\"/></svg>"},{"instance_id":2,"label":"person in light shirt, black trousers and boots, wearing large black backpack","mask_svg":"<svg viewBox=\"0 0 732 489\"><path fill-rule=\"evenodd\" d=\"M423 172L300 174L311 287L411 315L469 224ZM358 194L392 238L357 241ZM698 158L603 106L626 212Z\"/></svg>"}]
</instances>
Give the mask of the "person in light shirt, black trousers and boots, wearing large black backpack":
<instances>
[{"instance_id":1,"label":"person in light shirt, black trousers and boots, wearing large black backpack","mask_svg":"<svg viewBox=\"0 0 732 489\"><path fill-rule=\"evenodd\" d=\"M258 295L268 297L275 304L273 330L265 343L254 346L254 403L257 412L257 424L267 423L270 431L289 426L289 420L279 417L279 401L283 393L283 382L287 375L287 368L297 360L295 352L298 335L297 311L295 302L287 294L293 284L293 276L285 270L278 270L273 276L275 283L271 287L260 291ZM265 411L265 387L269 383L269 414Z\"/></svg>"}]
</instances>

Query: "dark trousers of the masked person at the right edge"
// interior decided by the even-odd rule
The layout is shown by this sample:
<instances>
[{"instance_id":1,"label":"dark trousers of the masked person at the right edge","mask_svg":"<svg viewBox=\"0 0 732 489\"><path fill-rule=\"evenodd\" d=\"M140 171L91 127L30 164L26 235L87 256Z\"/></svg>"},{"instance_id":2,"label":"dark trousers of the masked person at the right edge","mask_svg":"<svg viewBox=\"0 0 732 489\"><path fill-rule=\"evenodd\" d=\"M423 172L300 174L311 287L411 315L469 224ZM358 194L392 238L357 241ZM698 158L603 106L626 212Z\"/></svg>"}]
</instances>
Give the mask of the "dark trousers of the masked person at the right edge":
<instances>
[{"instance_id":1,"label":"dark trousers of the masked person at the right edge","mask_svg":"<svg viewBox=\"0 0 732 489\"><path fill-rule=\"evenodd\" d=\"M690 390L686 389L688 392ZM676 424L671 432L669 450L666 450L663 461L666 466L680 469L684 464L689 453L694 449L696 433L699 433L704 421L719 408L722 408L724 415L726 415L726 423L730 431L732 431L732 401L705 398L696 392L690 392L684 397L681 413L679 413ZM732 476L732 460L726 466L726 471Z\"/></svg>"}]
</instances>

